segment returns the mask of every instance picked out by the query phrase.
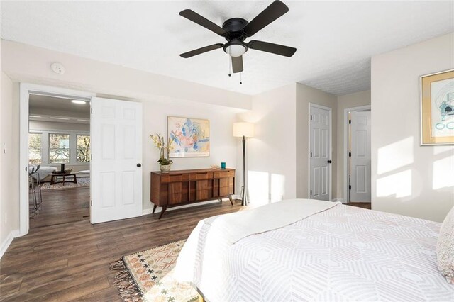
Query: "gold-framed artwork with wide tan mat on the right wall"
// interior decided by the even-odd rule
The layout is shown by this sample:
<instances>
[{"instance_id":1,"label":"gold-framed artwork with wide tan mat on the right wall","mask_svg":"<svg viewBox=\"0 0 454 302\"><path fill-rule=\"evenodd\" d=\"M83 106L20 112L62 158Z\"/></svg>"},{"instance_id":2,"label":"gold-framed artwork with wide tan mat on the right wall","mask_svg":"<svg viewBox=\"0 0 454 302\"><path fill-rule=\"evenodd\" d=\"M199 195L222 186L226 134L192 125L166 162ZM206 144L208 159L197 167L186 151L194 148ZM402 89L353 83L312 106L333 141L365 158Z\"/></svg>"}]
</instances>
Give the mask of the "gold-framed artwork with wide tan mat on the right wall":
<instances>
[{"instance_id":1,"label":"gold-framed artwork with wide tan mat on the right wall","mask_svg":"<svg viewBox=\"0 0 454 302\"><path fill-rule=\"evenodd\" d=\"M454 144L454 69L421 77L421 145Z\"/></svg>"}]
</instances>

